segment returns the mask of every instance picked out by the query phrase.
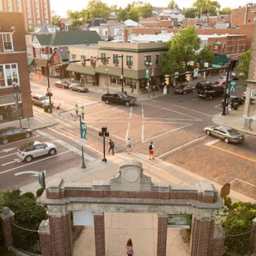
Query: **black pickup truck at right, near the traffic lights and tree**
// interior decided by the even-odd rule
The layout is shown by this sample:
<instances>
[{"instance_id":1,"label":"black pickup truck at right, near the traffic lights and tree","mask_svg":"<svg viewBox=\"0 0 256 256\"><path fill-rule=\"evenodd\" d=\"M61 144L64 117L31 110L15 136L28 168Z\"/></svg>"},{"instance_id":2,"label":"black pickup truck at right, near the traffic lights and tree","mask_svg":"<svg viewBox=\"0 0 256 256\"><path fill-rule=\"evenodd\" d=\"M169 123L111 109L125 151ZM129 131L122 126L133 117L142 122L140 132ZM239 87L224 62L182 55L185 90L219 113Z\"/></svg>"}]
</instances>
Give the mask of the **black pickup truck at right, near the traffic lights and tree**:
<instances>
[{"instance_id":1,"label":"black pickup truck at right, near the traffic lights and tree","mask_svg":"<svg viewBox=\"0 0 256 256\"><path fill-rule=\"evenodd\" d=\"M197 96L200 98L214 99L214 97L223 95L224 92L224 87L219 86L217 83L197 86Z\"/></svg>"}]
</instances>

